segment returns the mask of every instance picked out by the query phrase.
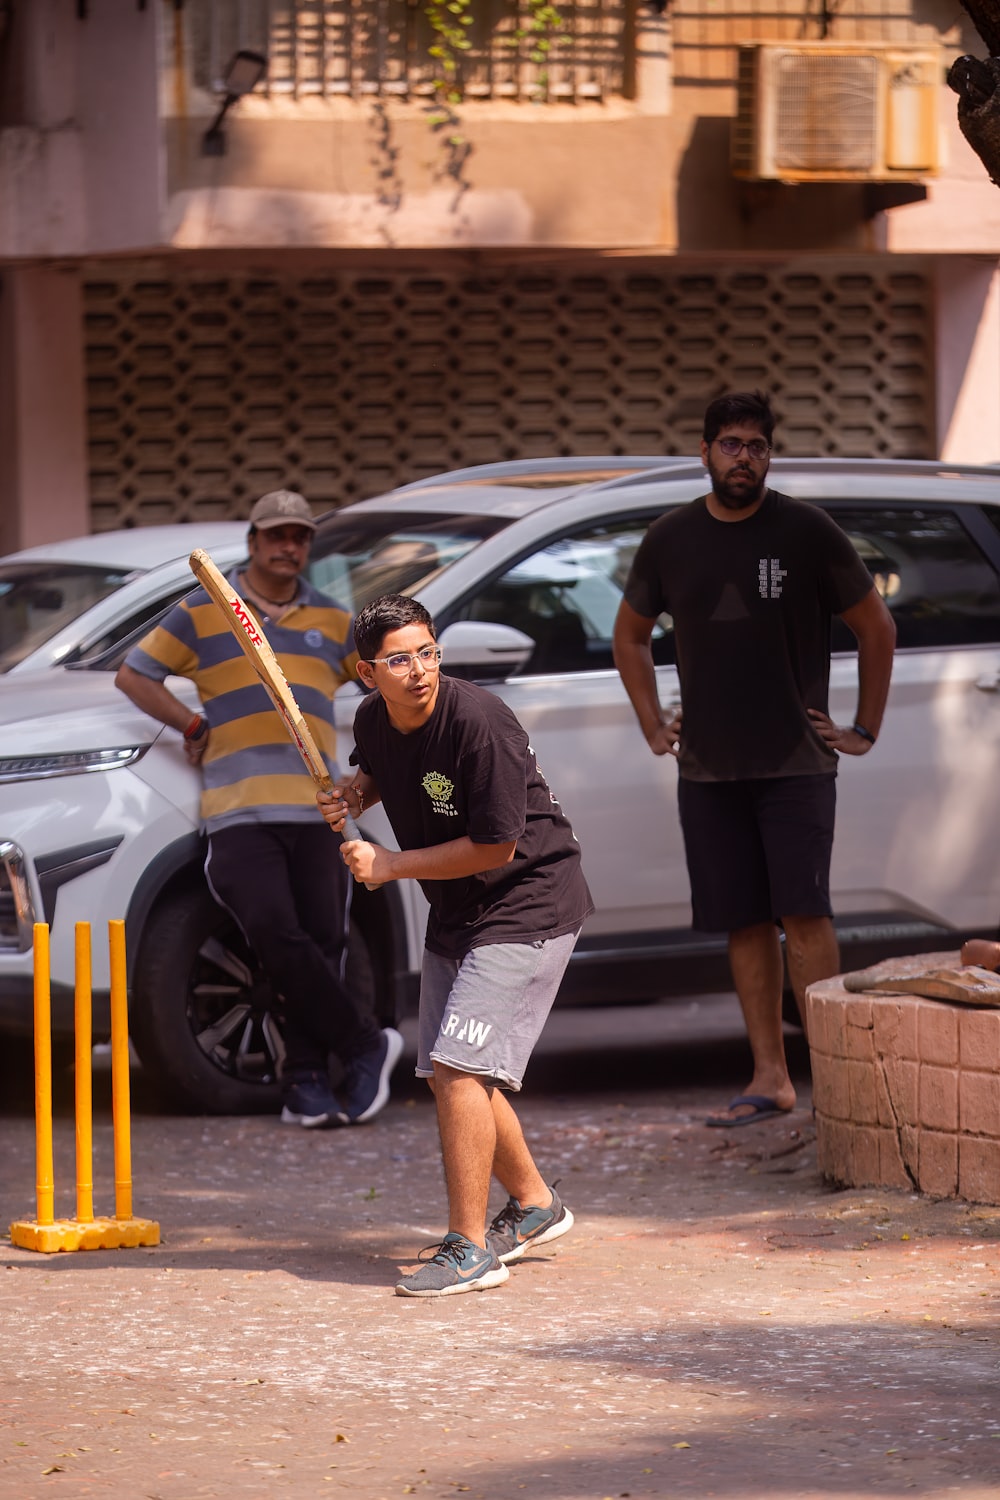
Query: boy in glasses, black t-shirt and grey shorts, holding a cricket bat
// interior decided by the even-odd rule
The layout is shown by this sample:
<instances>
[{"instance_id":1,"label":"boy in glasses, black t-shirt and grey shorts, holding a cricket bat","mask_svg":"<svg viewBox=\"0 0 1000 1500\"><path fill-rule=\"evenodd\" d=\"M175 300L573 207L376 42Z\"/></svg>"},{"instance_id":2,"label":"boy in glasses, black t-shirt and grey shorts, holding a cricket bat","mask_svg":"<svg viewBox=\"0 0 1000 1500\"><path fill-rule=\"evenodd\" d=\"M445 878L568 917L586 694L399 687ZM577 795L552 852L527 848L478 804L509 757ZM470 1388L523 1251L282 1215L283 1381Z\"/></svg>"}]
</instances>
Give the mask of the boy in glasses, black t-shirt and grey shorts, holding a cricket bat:
<instances>
[{"instance_id":1,"label":"boy in glasses, black t-shirt and grey shorts, holding a cricket bat","mask_svg":"<svg viewBox=\"0 0 1000 1500\"><path fill-rule=\"evenodd\" d=\"M354 840L358 880L412 878L430 903L417 1076L438 1107L448 1233L400 1296L481 1292L507 1262L573 1227L543 1180L501 1089L520 1083L583 920L580 848L510 708L441 676L430 615L387 594L354 621L360 704L354 782L319 796L327 822L381 800L399 850ZM508 1192L486 1227L490 1179Z\"/></svg>"}]
</instances>

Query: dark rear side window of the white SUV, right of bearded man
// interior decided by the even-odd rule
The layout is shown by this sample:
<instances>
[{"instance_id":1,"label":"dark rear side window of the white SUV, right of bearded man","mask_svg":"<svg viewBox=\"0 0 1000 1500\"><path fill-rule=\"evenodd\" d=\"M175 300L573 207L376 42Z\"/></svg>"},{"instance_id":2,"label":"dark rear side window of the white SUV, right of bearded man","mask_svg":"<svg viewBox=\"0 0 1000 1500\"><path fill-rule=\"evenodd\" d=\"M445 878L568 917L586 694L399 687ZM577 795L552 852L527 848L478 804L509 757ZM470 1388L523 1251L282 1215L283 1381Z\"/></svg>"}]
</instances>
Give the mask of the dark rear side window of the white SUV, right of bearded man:
<instances>
[{"instance_id":1,"label":"dark rear side window of the white SUV, right of bearded man","mask_svg":"<svg viewBox=\"0 0 1000 1500\"><path fill-rule=\"evenodd\" d=\"M897 622L897 646L1000 640L1000 580L952 510L831 507ZM834 650L855 638L834 624Z\"/></svg>"}]
</instances>

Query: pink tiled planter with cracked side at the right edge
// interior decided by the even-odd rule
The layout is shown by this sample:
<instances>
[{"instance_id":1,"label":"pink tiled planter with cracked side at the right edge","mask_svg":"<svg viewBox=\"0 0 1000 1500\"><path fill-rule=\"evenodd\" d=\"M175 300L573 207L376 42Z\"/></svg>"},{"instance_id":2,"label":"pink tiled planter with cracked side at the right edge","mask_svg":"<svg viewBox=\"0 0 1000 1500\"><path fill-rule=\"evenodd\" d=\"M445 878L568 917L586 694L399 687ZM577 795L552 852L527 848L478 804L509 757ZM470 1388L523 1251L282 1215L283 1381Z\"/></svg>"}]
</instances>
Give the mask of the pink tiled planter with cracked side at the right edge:
<instances>
[{"instance_id":1,"label":"pink tiled planter with cracked side at the right edge","mask_svg":"<svg viewBox=\"0 0 1000 1500\"><path fill-rule=\"evenodd\" d=\"M877 970L958 966L924 952ZM1000 1010L852 994L841 978L811 984L805 1005L822 1174L1000 1204Z\"/></svg>"}]
</instances>

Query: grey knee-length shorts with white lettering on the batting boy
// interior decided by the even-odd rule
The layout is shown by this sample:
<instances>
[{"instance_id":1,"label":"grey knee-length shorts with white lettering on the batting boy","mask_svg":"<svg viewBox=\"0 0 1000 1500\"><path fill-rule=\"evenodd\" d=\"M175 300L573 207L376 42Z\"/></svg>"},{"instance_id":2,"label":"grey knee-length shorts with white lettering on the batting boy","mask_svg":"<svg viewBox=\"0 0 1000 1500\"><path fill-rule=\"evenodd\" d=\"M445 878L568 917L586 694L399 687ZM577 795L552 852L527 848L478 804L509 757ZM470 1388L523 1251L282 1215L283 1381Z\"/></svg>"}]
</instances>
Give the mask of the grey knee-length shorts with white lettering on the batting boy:
<instances>
[{"instance_id":1,"label":"grey knee-length shorts with white lettering on the batting boy","mask_svg":"<svg viewBox=\"0 0 1000 1500\"><path fill-rule=\"evenodd\" d=\"M463 958L424 951L417 1077L442 1062L517 1092L579 936L486 944Z\"/></svg>"}]
</instances>

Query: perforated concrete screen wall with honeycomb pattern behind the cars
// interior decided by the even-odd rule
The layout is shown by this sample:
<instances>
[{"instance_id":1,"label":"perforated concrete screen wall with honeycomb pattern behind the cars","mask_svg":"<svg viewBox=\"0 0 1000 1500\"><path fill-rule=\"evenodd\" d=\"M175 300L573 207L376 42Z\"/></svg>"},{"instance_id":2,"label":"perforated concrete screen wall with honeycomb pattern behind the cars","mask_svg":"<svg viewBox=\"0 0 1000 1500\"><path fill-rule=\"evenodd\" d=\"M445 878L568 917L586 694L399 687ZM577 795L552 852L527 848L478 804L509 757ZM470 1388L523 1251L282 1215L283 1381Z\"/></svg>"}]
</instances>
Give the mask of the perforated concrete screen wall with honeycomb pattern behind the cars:
<instances>
[{"instance_id":1,"label":"perforated concrete screen wall with honeycomb pattern behind the cars","mask_svg":"<svg viewBox=\"0 0 1000 1500\"><path fill-rule=\"evenodd\" d=\"M106 264L85 285L93 525L346 504L466 464L696 453L763 387L778 452L931 458L921 261L607 260L291 274Z\"/></svg>"}]
</instances>

